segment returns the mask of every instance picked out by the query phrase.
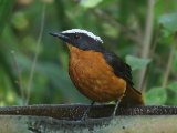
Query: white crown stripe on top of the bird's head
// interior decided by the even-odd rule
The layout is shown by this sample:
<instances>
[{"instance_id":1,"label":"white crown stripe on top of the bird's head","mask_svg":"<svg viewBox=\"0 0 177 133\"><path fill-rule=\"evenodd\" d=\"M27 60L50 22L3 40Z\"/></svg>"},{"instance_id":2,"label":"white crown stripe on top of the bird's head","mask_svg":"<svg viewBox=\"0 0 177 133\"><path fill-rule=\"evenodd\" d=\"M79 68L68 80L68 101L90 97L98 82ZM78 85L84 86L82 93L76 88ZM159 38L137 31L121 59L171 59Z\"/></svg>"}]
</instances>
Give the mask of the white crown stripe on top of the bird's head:
<instances>
[{"instance_id":1,"label":"white crown stripe on top of the bird's head","mask_svg":"<svg viewBox=\"0 0 177 133\"><path fill-rule=\"evenodd\" d=\"M103 40L100 37L94 35L92 32L88 32L88 31L82 30L82 29L71 29L71 30L63 31L62 33L84 33L84 34L93 38L94 40L100 41L101 43L103 43Z\"/></svg>"}]
</instances>

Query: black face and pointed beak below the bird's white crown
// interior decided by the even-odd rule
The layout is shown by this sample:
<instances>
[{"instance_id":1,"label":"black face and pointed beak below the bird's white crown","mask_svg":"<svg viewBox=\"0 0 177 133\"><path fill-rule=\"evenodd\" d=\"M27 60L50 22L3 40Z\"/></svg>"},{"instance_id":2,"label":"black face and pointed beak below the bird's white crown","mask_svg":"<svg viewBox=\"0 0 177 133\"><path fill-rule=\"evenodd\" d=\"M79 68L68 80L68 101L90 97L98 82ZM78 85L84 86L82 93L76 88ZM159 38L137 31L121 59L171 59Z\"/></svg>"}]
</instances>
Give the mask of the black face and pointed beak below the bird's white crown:
<instances>
[{"instance_id":1,"label":"black face and pointed beak below the bird's white crown","mask_svg":"<svg viewBox=\"0 0 177 133\"><path fill-rule=\"evenodd\" d=\"M53 37L58 37L62 41L72 44L73 47L82 50L95 50L102 49L102 41L96 40L85 33L50 33Z\"/></svg>"}]
</instances>

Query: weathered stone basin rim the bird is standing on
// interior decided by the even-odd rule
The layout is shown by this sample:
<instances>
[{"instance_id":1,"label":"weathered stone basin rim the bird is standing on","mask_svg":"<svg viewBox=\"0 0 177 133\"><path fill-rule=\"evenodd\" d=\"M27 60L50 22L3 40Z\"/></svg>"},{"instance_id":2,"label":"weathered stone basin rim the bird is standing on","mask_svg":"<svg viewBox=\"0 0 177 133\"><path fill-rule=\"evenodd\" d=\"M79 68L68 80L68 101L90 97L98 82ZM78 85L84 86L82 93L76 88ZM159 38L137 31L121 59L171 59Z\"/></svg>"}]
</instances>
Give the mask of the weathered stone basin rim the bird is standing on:
<instances>
[{"instance_id":1,"label":"weathered stone basin rim the bird is standing on","mask_svg":"<svg viewBox=\"0 0 177 133\"><path fill-rule=\"evenodd\" d=\"M90 119L80 121L88 105L29 105L0 108L0 133L174 133L177 106L119 108L95 105Z\"/></svg>"}]
</instances>

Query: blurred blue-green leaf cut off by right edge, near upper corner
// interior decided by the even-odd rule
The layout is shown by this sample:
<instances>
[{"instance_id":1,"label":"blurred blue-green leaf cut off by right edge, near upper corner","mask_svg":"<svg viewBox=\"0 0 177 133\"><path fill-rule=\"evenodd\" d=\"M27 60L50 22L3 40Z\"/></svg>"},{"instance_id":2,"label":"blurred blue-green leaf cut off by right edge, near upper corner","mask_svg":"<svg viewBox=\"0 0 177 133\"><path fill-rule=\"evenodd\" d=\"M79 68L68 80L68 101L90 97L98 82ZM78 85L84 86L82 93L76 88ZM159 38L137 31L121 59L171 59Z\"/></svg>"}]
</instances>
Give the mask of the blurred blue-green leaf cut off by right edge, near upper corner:
<instances>
[{"instance_id":1,"label":"blurred blue-green leaf cut off by right edge, near upper corner","mask_svg":"<svg viewBox=\"0 0 177 133\"><path fill-rule=\"evenodd\" d=\"M177 12L173 12L173 13L166 13L166 14L163 14L158 22L160 24L163 24L163 27L169 31L170 33L174 33L177 31L177 27L176 27L176 23L177 23Z\"/></svg>"}]
</instances>

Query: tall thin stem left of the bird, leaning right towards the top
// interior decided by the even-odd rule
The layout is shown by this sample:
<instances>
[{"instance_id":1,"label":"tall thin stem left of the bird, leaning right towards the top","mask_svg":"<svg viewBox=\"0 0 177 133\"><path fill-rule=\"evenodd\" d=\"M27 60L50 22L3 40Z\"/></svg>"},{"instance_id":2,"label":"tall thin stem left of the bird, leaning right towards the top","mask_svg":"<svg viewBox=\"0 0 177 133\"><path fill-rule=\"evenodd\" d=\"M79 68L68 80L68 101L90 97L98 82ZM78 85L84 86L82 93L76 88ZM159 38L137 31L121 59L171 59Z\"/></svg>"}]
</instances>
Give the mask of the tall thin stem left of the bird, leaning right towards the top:
<instances>
[{"instance_id":1,"label":"tall thin stem left of the bird, leaning right towards the top","mask_svg":"<svg viewBox=\"0 0 177 133\"><path fill-rule=\"evenodd\" d=\"M43 29L44 29L44 20L45 20L45 3L43 4L43 9L42 9L41 28L40 28L38 42L37 42L35 54L34 54L34 59L33 59L33 63L32 63L31 72L30 72L30 78L29 78L29 82L28 82L25 104L28 104L29 100L30 100L30 90L31 90L34 70L35 70L35 65L37 65L37 61L38 61L38 57L39 57L39 50L40 50L42 33L43 33Z\"/></svg>"}]
</instances>

